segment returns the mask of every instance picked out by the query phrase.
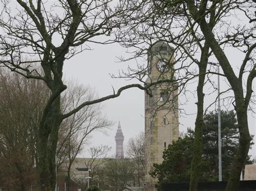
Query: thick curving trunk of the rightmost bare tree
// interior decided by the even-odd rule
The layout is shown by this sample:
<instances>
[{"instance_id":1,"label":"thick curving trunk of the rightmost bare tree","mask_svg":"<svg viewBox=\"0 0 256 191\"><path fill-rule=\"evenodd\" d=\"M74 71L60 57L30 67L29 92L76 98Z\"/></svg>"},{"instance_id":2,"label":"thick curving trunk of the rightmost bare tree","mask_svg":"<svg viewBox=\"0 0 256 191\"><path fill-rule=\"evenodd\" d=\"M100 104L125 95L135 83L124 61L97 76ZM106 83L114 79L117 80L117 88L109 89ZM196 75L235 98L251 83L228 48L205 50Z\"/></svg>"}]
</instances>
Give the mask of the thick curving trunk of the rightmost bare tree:
<instances>
[{"instance_id":1,"label":"thick curving trunk of the rightmost bare tree","mask_svg":"<svg viewBox=\"0 0 256 191\"><path fill-rule=\"evenodd\" d=\"M217 40L214 38L212 30L206 23L205 19L200 21L200 28L205 36L205 40L211 47L214 55L218 59L221 68L225 76L227 77L228 82L231 84L232 90L235 95L235 111L237 112L237 121L239 129L239 145L235 153L235 157L231 166L230 177L228 178L228 183L226 190L235 191L238 190L240 174L242 167L244 166L248 151L250 149L250 133L248 130L247 123L247 106L245 105L242 81L238 79L234 71L226 58L225 53L221 49Z\"/></svg>"}]
</instances>

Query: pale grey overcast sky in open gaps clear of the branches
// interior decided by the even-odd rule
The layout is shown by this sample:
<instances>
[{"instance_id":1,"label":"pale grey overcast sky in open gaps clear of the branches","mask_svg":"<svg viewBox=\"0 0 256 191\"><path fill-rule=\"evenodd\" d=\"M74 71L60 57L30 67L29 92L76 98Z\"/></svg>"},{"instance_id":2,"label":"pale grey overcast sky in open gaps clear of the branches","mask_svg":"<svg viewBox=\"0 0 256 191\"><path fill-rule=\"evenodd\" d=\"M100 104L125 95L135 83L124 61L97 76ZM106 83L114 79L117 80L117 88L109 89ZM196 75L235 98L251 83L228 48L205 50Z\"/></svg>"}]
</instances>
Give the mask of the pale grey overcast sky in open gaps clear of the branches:
<instances>
[{"instance_id":1,"label":"pale grey overcast sky in open gaps clear of the branches","mask_svg":"<svg viewBox=\"0 0 256 191\"><path fill-rule=\"evenodd\" d=\"M136 81L125 81L123 79L111 79L109 74L118 74L120 69L126 69L128 65L136 64L136 61L118 63L116 56L124 55L126 49L120 47L117 44L112 45L92 45L93 51L85 51L73 59L66 61L64 65L64 74L68 78L76 79L84 86L91 86L96 89L99 96L106 96L113 93L112 86L115 90L125 84L137 83ZM240 55L236 56L235 53L230 53L230 60L232 63L241 63L242 58ZM212 60L211 60L212 61ZM214 61L214 60L213 60ZM141 61L142 62L142 61ZM145 62L146 63L146 62ZM217 77L215 78L217 82ZM226 86L224 79L220 79L221 86ZM196 87L196 83L194 87ZM255 87L255 80L254 80ZM221 87L220 87L221 89ZM207 89L204 90L207 94ZM217 94L217 93L216 93ZM185 132L188 127L194 128L194 122L196 118L196 103L197 99L194 94L186 95L188 97L188 103L182 107L186 110L187 116L180 118L179 130ZM208 105L217 95L209 96L205 99L205 105ZM211 97L211 99L210 99ZM184 102L184 97L179 97L180 102ZM117 131L118 121L120 121L122 131L124 134L124 147L127 144L129 138L136 136L140 131L144 130L144 91L133 88L126 90L118 98L106 101L103 103L104 110L107 118L115 122L110 130L107 130L107 135L100 132L94 132L93 138L90 141L90 146L97 146L100 144L109 145L112 147L110 156L115 153L115 141L114 136ZM255 105L254 105L255 106ZM205 106L206 107L206 106ZM212 107L212 110L215 107ZM221 108L225 109L225 108ZM232 108L230 108L232 109ZM255 135L255 115L248 113L250 133ZM256 155L256 146L254 145L249 154ZM83 152L81 155L89 157L88 154Z\"/></svg>"}]
</instances>

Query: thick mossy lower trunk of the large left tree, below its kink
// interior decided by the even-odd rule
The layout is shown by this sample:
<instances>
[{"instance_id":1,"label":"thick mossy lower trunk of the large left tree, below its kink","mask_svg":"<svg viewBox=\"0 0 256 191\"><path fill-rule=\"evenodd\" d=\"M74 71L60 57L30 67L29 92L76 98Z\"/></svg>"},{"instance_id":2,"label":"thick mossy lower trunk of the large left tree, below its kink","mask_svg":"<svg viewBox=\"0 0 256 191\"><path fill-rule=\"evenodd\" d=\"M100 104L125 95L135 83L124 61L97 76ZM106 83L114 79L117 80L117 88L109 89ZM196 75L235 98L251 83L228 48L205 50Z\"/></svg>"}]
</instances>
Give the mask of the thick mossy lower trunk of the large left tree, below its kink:
<instances>
[{"instance_id":1,"label":"thick mossy lower trunk of the large left tree, below its kink","mask_svg":"<svg viewBox=\"0 0 256 191\"><path fill-rule=\"evenodd\" d=\"M38 169L42 191L55 190L56 147L60 123L60 96L58 96L38 132Z\"/></svg>"}]
</instances>

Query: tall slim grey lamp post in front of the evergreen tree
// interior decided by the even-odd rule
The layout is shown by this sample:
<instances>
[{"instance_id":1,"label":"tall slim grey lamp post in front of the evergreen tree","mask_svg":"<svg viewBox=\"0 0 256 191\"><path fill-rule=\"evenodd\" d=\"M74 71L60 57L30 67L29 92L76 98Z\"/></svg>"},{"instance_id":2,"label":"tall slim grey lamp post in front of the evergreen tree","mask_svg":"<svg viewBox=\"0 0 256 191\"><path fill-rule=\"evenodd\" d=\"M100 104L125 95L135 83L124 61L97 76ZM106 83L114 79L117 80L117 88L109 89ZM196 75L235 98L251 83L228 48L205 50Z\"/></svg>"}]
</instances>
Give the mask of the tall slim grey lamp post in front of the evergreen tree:
<instances>
[{"instance_id":1,"label":"tall slim grey lamp post in front of the evergreen tree","mask_svg":"<svg viewBox=\"0 0 256 191\"><path fill-rule=\"evenodd\" d=\"M217 66L218 72L218 153L219 153L219 181L222 181L222 167L221 167L221 126L220 126L220 65L219 63L208 62L210 65Z\"/></svg>"}]
</instances>

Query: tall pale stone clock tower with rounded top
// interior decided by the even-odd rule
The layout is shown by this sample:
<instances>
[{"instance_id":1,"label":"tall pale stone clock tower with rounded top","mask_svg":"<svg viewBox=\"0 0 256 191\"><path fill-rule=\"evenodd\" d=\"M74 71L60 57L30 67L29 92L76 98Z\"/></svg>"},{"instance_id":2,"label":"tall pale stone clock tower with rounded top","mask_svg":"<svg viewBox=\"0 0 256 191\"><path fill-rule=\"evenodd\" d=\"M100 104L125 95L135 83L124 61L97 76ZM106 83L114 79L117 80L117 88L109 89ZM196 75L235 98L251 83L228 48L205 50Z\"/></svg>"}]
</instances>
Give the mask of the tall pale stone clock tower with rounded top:
<instances>
[{"instance_id":1,"label":"tall pale stone clock tower with rounded top","mask_svg":"<svg viewBox=\"0 0 256 191\"><path fill-rule=\"evenodd\" d=\"M163 151L179 137L178 84L174 77L173 48L158 41L148 53L149 76L147 84L170 80L151 87L145 93L145 190L154 190L157 180L149 171L154 163L163 161Z\"/></svg>"}]
</instances>

